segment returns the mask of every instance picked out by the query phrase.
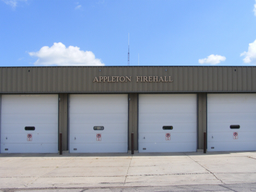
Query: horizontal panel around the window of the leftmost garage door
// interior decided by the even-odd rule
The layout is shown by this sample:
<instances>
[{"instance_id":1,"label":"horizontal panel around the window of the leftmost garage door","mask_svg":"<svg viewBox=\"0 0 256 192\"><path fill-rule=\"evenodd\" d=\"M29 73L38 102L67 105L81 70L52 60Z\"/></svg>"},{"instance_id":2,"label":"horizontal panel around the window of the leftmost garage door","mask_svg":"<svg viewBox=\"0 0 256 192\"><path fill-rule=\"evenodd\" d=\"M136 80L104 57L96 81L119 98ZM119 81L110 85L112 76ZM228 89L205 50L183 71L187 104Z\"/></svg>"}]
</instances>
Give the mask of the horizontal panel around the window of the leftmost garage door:
<instances>
[{"instance_id":1,"label":"horizontal panel around the window of the leftmost garage door","mask_svg":"<svg viewBox=\"0 0 256 192\"><path fill-rule=\"evenodd\" d=\"M24 133L26 126L34 126L35 130L33 133L58 133L58 130L56 129L56 126L58 126L57 123L55 124L2 124L2 126L6 127L2 131L2 133ZM28 132L28 131L26 131Z\"/></svg>"}]
</instances>

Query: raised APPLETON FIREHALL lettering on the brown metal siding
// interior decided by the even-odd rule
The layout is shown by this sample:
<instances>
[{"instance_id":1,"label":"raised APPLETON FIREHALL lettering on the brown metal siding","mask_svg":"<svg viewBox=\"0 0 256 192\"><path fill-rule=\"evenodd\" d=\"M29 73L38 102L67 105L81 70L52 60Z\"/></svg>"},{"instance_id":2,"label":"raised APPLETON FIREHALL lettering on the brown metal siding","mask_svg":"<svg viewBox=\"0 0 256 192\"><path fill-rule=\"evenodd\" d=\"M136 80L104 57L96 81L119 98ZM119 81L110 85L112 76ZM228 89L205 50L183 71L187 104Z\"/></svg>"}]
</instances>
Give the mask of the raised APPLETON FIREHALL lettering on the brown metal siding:
<instances>
[{"instance_id":1,"label":"raised APPLETON FIREHALL lettering on the brown metal siding","mask_svg":"<svg viewBox=\"0 0 256 192\"><path fill-rule=\"evenodd\" d=\"M131 82L131 76L100 76L94 82ZM137 76L136 82L173 82L171 76Z\"/></svg>"}]
</instances>

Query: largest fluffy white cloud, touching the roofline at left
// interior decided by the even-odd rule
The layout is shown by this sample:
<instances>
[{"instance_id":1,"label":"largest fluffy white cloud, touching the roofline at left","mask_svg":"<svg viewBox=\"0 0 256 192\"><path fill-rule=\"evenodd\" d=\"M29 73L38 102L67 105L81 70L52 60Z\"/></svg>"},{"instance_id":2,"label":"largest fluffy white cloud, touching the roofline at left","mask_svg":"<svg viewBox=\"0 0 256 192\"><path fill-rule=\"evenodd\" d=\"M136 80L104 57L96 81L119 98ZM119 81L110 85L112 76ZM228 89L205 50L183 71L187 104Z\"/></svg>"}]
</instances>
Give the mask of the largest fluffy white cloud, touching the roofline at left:
<instances>
[{"instance_id":1,"label":"largest fluffy white cloud, touching the roofline at left","mask_svg":"<svg viewBox=\"0 0 256 192\"><path fill-rule=\"evenodd\" d=\"M66 46L54 43L53 46L43 46L37 52L28 53L38 57L36 66L103 66L100 59L96 59L91 51L80 50L77 46Z\"/></svg>"}]
</instances>

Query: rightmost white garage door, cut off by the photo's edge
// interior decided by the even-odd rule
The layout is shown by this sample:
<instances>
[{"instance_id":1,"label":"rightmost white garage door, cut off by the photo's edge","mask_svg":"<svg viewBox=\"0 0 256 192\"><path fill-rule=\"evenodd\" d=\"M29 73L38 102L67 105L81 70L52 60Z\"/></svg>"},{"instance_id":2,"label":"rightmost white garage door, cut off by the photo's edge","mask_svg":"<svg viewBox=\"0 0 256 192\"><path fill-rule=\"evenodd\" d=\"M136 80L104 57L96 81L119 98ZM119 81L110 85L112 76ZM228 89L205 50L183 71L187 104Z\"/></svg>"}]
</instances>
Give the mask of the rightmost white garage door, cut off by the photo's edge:
<instances>
[{"instance_id":1,"label":"rightmost white garage door, cut off by the photo's edge","mask_svg":"<svg viewBox=\"0 0 256 192\"><path fill-rule=\"evenodd\" d=\"M207 95L207 150L256 150L256 94Z\"/></svg>"}]
</instances>

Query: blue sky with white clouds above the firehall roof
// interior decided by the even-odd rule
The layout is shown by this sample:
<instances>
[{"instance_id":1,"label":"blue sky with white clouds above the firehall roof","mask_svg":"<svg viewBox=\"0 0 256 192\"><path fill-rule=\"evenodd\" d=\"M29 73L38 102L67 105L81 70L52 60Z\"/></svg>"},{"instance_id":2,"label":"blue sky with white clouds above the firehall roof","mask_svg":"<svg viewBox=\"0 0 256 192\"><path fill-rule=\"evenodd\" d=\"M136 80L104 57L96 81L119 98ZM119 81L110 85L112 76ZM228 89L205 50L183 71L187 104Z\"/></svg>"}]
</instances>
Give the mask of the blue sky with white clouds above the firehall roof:
<instances>
[{"instance_id":1,"label":"blue sky with white clouds above the firehall roof","mask_svg":"<svg viewBox=\"0 0 256 192\"><path fill-rule=\"evenodd\" d=\"M256 0L0 0L0 66L255 66Z\"/></svg>"}]
</instances>

